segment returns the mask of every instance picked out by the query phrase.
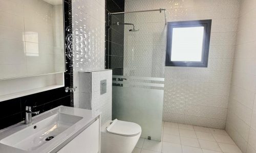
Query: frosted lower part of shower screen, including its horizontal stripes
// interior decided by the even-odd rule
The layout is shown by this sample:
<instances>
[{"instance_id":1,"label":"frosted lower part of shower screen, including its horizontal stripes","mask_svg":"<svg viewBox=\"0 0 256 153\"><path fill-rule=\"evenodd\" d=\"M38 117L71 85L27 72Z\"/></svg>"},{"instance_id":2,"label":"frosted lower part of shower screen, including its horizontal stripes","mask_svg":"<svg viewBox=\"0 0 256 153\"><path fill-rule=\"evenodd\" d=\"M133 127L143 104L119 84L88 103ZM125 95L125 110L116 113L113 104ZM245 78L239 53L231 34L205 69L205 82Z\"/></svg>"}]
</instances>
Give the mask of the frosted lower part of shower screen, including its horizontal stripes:
<instances>
[{"instance_id":1,"label":"frosted lower part of shower screen, including its horizontal stripes","mask_svg":"<svg viewBox=\"0 0 256 153\"><path fill-rule=\"evenodd\" d=\"M142 138L160 141L163 88L163 78L113 75L113 119L135 122Z\"/></svg>"}]
</instances>

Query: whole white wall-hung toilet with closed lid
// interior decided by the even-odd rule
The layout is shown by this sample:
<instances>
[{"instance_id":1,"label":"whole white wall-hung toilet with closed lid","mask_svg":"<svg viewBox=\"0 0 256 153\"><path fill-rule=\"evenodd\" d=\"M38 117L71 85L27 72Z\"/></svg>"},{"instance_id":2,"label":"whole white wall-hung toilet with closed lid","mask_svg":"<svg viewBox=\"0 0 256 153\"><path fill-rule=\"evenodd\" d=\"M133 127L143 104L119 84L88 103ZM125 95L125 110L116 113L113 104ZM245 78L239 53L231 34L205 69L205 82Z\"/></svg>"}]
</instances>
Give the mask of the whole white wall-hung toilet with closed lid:
<instances>
[{"instance_id":1,"label":"whole white wall-hung toilet with closed lid","mask_svg":"<svg viewBox=\"0 0 256 153\"><path fill-rule=\"evenodd\" d=\"M140 125L121 120L101 126L101 153L131 153L141 135Z\"/></svg>"}]
</instances>

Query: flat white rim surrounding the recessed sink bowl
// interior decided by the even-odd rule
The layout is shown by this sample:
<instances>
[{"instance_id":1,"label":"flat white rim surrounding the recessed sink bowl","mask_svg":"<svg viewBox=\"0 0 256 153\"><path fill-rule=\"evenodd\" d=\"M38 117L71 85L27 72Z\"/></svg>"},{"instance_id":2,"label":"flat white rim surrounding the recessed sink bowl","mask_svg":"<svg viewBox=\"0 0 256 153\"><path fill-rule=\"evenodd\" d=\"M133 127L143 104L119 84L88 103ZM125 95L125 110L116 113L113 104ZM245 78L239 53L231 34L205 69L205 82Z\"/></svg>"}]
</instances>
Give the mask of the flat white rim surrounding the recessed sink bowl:
<instances>
[{"instance_id":1,"label":"flat white rim surrounding the recessed sink bowl","mask_svg":"<svg viewBox=\"0 0 256 153\"><path fill-rule=\"evenodd\" d=\"M61 147L65 146L68 142L70 142L73 138L75 138L78 134L80 134L84 129L86 129L95 119L99 118L99 114L93 114L91 110L84 110L66 106L59 106L47 112L41 113L32 118L31 124L24 124L23 122L17 123L15 125L9 126L6 129L0 131L0 141L20 130L23 130L29 126L36 125L37 122L52 116L53 114L63 113L68 115L80 116L81 120L76 122L74 125L70 126L69 129L57 135L51 141L45 143L40 146L36 150L26 151L22 149L18 149L12 146L5 145L0 143L0 152L8 152L8 153L25 153L25 152L56 152Z\"/></svg>"}]
</instances>

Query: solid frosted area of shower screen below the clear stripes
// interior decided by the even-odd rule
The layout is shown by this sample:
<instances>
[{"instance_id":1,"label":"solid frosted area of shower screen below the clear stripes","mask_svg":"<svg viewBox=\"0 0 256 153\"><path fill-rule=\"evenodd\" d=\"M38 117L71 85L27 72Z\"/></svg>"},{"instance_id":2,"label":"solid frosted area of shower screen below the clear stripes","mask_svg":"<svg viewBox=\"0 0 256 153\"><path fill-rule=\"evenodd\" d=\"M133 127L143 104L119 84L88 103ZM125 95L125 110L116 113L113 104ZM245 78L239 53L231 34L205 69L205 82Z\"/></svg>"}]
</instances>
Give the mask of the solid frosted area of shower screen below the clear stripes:
<instances>
[{"instance_id":1,"label":"solid frosted area of shower screen below the clear stripes","mask_svg":"<svg viewBox=\"0 0 256 153\"><path fill-rule=\"evenodd\" d=\"M113 118L138 123L142 138L161 140L163 90L113 86Z\"/></svg>"}]
</instances>

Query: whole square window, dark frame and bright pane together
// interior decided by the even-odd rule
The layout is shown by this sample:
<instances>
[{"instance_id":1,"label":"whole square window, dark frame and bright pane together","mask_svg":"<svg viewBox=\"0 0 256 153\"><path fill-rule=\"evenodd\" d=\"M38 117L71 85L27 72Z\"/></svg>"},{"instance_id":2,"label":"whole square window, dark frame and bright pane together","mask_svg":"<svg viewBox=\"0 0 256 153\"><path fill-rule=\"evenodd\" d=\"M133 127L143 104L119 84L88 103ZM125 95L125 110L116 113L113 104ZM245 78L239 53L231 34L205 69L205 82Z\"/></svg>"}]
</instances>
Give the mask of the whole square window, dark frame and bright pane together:
<instances>
[{"instance_id":1,"label":"whole square window, dark frame and bright pane together","mask_svg":"<svg viewBox=\"0 0 256 153\"><path fill-rule=\"evenodd\" d=\"M211 20L168 22L166 66L207 67Z\"/></svg>"}]
</instances>

